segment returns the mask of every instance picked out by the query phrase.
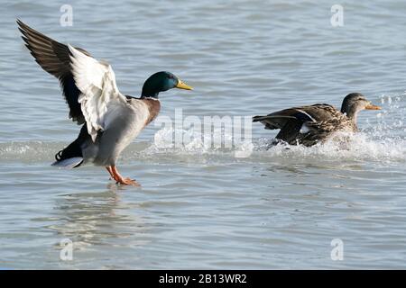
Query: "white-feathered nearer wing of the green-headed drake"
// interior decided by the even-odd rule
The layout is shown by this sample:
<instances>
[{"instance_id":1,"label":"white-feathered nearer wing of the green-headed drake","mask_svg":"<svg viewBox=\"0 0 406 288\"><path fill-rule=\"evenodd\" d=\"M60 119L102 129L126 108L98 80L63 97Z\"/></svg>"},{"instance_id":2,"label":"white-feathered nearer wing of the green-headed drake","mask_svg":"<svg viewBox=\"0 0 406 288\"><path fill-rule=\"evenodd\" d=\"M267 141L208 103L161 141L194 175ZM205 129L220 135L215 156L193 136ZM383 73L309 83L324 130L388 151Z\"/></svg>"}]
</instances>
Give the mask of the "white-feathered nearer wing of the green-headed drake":
<instances>
[{"instance_id":1,"label":"white-feathered nearer wing of the green-headed drake","mask_svg":"<svg viewBox=\"0 0 406 288\"><path fill-rule=\"evenodd\" d=\"M125 96L118 91L115 72L108 63L88 57L70 45L68 47L72 74L81 92L78 103L87 122L88 134L94 142L97 131L105 129L108 103L125 103Z\"/></svg>"}]
</instances>

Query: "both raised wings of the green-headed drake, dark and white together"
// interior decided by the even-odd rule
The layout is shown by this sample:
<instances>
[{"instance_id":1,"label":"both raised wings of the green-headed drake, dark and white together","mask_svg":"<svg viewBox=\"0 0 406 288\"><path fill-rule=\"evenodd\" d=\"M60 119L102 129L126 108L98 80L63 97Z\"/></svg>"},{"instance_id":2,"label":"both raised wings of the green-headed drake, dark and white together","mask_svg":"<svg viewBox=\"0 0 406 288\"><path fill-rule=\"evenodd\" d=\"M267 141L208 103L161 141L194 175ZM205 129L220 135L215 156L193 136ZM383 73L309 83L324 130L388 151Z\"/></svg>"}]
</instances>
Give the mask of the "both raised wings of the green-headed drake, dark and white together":
<instances>
[{"instance_id":1,"label":"both raised wings of the green-headed drake, dark and white together","mask_svg":"<svg viewBox=\"0 0 406 288\"><path fill-rule=\"evenodd\" d=\"M92 58L88 51L64 45L17 20L26 47L40 66L60 80L69 118L78 124L87 122L88 134L96 140L104 129L107 104L124 101L118 91L115 73L106 62Z\"/></svg>"}]
</instances>

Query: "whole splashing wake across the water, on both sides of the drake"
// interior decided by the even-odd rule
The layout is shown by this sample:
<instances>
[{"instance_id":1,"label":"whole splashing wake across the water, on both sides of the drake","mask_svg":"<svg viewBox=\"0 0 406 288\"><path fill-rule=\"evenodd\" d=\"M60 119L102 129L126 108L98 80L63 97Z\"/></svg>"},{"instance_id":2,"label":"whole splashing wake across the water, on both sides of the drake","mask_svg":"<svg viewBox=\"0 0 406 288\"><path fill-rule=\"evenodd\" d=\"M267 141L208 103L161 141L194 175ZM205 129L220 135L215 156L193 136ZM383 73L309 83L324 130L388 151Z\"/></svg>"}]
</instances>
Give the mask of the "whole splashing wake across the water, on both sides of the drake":
<instances>
[{"instance_id":1,"label":"whole splashing wake across the water, on both sides of the drake","mask_svg":"<svg viewBox=\"0 0 406 288\"><path fill-rule=\"evenodd\" d=\"M329 140L310 148L302 146L276 145L271 147L272 138L260 138L234 143L233 135L223 130L225 141L232 147L212 147L211 133L197 133L194 130L158 130L152 142L135 142L125 149L122 159L133 161L165 157L176 161L185 157L198 159L209 157L222 161L235 158L236 151L245 153L247 161L272 161L284 159L292 161L378 161L404 162L406 160L406 93L380 97L383 110L359 124L362 131L345 135L346 141ZM181 147L173 144L174 133L185 135ZM7 161L53 161L60 148L69 143L50 141L13 141L0 143L0 158Z\"/></svg>"}]
</instances>

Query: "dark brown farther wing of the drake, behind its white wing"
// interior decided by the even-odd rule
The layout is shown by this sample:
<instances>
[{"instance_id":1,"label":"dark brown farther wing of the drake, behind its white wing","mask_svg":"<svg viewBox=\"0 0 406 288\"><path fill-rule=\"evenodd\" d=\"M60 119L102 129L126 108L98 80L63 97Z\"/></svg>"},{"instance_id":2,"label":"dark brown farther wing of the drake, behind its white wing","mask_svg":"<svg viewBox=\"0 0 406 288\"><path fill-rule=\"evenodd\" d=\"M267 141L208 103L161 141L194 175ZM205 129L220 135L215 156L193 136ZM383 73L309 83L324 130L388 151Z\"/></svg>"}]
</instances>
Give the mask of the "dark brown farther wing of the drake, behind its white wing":
<instances>
[{"instance_id":1,"label":"dark brown farther wing of the drake, behind its white wing","mask_svg":"<svg viewBox=\"0 0 406 288\"><path fill-rule=\"evenodd\" d=\"M25 46L31 51L35 61L48 73L60 80L60 86L69 105L69 118L78 124L85 122L85 118L78 103L80 91L70 71L69 48L56 40L33 30L22 21L17 20L19 30L22 32ZM90 56L88 51L79 49Z\"/></svg>"}]
</instances>

